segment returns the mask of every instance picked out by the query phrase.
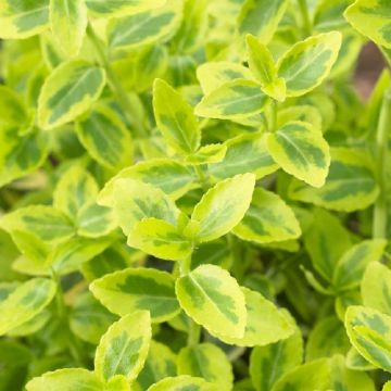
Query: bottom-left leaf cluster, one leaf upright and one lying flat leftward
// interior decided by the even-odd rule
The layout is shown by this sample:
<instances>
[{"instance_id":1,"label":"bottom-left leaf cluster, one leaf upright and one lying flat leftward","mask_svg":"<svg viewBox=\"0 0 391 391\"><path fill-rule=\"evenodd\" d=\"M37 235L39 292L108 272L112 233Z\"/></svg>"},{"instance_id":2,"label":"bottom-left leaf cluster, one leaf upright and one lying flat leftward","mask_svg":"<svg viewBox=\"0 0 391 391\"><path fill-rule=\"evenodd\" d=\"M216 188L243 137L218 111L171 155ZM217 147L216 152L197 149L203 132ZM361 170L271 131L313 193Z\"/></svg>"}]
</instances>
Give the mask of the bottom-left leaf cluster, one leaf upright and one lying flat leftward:
<instances>
[{"instance_id":1,"label":"bottom-left leaf cluster, one leaf upright and one lying flat leftward","mask_svg":"<svg viewBox=\"0 0 391 391\"><path fill-rule=\"evenodd\" d=\"M26 389L129 391L129 382L140 373L147 358L151 333L147 311L124 316L102 337L96 351L94 371L59 369L34 378Z\"/></svg>"}]
</instances>

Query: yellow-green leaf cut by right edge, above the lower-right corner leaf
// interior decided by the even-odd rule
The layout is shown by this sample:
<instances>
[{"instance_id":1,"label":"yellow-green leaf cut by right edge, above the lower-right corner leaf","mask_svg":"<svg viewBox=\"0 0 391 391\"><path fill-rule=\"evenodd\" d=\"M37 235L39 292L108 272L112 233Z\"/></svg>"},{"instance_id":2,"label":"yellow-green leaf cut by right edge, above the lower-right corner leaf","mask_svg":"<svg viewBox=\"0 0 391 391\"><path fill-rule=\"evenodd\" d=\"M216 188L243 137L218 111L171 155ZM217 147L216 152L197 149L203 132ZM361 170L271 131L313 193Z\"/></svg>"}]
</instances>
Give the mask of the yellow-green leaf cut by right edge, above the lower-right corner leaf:
<instances>
[{"instance_id":1,"label":"yellow-green leaf cut by right edge, above the lower-right corner leaf","mask_svg":"<svg viewBox=\"0 0 391 391\"><path fill-rule=\"evenodd\" d=\"M379 257L376 256L371 261ZM379 262L369 263L361 281L361 291L365 306L391 316L391 270L389 267Z\"/></svg>"}]
</instances>

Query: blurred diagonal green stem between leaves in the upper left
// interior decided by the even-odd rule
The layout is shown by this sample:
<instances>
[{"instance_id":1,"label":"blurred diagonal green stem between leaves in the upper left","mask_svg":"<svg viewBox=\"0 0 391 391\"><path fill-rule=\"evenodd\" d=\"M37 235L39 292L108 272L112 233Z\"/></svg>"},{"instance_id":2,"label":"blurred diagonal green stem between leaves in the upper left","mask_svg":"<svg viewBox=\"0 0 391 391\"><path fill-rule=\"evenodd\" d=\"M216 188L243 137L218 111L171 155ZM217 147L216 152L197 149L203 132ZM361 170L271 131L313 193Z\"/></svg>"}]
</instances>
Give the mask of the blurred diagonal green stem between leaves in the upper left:
<instances>
[{"instance_id":1,"label":"blurred diagonal green stem between leaves in the upper left","mask_svg":"<svg viewBox=\"0 0 391 391\"><path fill-rule=\"evenodd\" d=\"M110 64L104 46L96 35L90 24L87 26L87 35L93 43L100 63L105 68L109 85L112 91L116 94L127 119L134 126L137 136L139 138L146 138L148 136L148 133L143 125L144 115L142 112L142 103L140 102L140 99L136 93L128 94L123 88L121 81L118 80L118 77L116 76Z\"/></svg>"}]
</instances>

